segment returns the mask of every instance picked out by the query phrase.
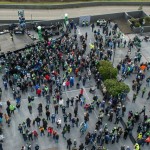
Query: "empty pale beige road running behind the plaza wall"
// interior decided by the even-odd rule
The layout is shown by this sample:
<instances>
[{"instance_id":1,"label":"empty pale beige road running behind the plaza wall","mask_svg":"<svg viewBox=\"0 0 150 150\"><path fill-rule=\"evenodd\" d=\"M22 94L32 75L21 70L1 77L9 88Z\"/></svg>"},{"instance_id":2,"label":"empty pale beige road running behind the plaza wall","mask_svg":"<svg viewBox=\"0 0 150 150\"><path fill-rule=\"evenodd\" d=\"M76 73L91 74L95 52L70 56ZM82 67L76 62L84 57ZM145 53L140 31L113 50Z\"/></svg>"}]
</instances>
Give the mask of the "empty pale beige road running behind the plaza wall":
<instances>
[{"instance_id":1,"label":"empty pale beige road running behind the plaza wall","mask_svg":"<svg viewBox=\"0 0 150 150\"><path fill-rule=\"evenodd\" d=\"M64 18L64 14L68 13L69 18L87 16L87 15L100 15L117 12L136 11L139 6L96 6L85 8L68 8L68 9L45 9L25 10L26 20L55 20ZM143 11L150 14L150 6L143 6ZM0 9L0 20L17 20L18 9Z\"/></svg>"}]
</instances>

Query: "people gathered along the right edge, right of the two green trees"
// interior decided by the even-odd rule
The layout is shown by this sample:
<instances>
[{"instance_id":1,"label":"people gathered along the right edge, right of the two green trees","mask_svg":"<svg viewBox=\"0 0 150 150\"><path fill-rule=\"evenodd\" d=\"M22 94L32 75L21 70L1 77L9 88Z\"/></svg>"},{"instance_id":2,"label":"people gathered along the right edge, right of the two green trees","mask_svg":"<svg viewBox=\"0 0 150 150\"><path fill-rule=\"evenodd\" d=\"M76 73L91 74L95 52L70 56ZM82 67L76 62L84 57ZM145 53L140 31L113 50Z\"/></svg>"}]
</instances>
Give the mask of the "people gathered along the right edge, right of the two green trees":
<instances>
[{"instance_id":1,"label":"people gathered along the right edge, right of the two green trees","mask_svg":"<svg viewBox=\"0 0 150 150\"><path fill-rule=\"evenodd\" d=\"M131 43L131 42L130 42ZM131 49L130 49L131 50ZM149 62L142 62L141 63L141 52L137 49L135 52L135 57L131 59L129 55L125 57L125 59L120 62L117 66L118 72L123 75L124 80L126 78L130 78L131 75L135 74L135 79L132 80L132 91L133 91L133 98L132 103L136 103L138 96L140 98L144 98L146 100L149 99L150 91L148 91L147 97L145 93L147 91L147 87L149 87ZM148 109L149 111L149 109ZM142 116L143 114L143 116ZM137 143L135 144L134 148L136 150L140 149L140 146L144 146L144 144L149 144L149 129L150 129L150 122L149 116L146 114L146 106L140 111L129 111L128 112L128 119L126 122L126 130L129 134L135 128L135 124L137 125Z\"/></svg>"}]
</instances>

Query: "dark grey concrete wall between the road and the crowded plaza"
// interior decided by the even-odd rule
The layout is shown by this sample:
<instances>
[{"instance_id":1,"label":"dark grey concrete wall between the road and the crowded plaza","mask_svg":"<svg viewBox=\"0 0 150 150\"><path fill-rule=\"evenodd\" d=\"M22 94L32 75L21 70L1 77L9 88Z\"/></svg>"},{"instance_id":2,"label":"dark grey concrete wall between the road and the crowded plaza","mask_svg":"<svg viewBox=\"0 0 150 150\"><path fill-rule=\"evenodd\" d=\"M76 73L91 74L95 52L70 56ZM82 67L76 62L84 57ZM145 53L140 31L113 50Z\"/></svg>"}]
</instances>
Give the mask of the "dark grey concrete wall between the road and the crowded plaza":
<instances>
[{"instance_id":1,"label":"dark grey concrete wall between the road and the crowded plaza","mask_svg":"<svg viewBox=\"0 0 150 150\"><path fill-rule=\"evenodd\" d=\"M121 13L113 13L113 14L103 14L103 15L96 15L96 16L91 16L91 22L96 22L98 19L125 19L128 23L128 25L130 26L131 25L131 22L129 21L130 17L129 16L132 16L132 17L135 17L135 18L139 18L139 17L144 17L146 16L146 14L143 12L143 11L133 11L133 12L121 12ZM69 18L70 20L74 20L74 22L76 24L79 24L79 18L76 17L76 18ZM57 22L60 22L62 23L64 20L63 19L59 19L59 20L49 20L49 21L42 21L42 20L34 20L33 22L34 23L38 23L39 25L51 25L51 24L55 24ZM31 20L27 20L26 21L26 24L27 24L27 28L32 28L32 23ZM4 29L8 29L9 27L9 24L11 23L18 23L18 20L2 20L1 23L5 23L5 24L2 24L0 25L0 31L1 30L4 30ZM140 28L133 28L133 31L135 33L139 33L140 32ZM144 32L150 32L150 27L147 26L147 27L144 27Z\"/></svg>"}]
</instances>

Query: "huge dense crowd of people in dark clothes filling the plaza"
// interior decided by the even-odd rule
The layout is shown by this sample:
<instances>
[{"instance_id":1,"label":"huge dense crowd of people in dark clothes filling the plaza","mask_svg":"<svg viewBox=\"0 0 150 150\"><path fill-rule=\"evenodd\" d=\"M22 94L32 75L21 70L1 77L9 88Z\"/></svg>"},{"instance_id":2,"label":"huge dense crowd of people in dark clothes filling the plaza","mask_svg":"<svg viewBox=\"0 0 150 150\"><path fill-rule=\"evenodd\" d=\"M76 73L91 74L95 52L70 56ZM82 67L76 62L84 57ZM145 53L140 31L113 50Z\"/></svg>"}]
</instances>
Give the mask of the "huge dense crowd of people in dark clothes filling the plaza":
<instances>
[{"instance_id":1,"label":"huge dense crowd of people in dark clothes filling the plaza","mask_svg":"<svg viewBox=\"0 0 150 150\"><path fill-rule=\"evenodd\" d=\"M91 150L105 150L109 143L119 143L120 138L126 140L134 124L138 122L140 114L144 114L144 119L138 125L138 138L135 149L139 150L140 145L144 145L145 139L149 136L148 116L145 114L145 107L140 113L129 112L126 127L120 125L120 121L126 113L126 106L121 98L115 98L103 92L102 97L93 96L90 103L87 103L83 87L87 83L93 82L94 77L96 86L100 89L102 84L101 74L96 68L97 62L100 60L112 60L113 49L116 47L125 48L128 46L132 49L132 42L123 38L123 34L119 32L118 25L113 24L111 20L107 21L106 26L100 27L98 30L95 24L91 25L94 33L94 42L90 43L90 52L87 53L88 33L78 37L77 26L71 21L67 26L63 35L56 40L44 40L35 45L27 46L24 50L7 54L5 58L1 58L2 65L2 81L4 87L0 89L0 98L3 100L3 90L12 90L13 98L16 100L16 105L11 99L6 100L6 113L4 118L8 127L11 127L12 115L16 109L22 111L22 94L32 92L45 99L46 105L40 102L37 109L33 109L35 101L34 96L28 96L26 103L29 114L36 113L37 117L31 119L28 116L23 122L18 124L18 132L22 135L26 143L37 143L38 137L47 135L58 143L60 138L64 138L67 142L69 150L84 150L90 147ZM70 31L73 30L73 35ZM47 38L46 38L47 39ZM86 53L86 56L85 56ZM137 56L137 55L136 55ZM140 64L140 58L135 58L131 61L130 56L117 65L118 73L128 78L133 72L137 72L136 79L133 81L133 102L136 101L137 94L140 91L142 80L145 79L146 70L140 69L145 65L149 69L149 64ZM139 62L139 63L138 63ZM149 83L149 78L146 82ZM149 86L149 84L147 84ZM63 92L75 87L79 89L76 97L63 98ZM144 96L145 88L142 90ZM33 95L34 95L33 94ZM148 99L150 94L148 96ZM54 112L50 109L52 106ZM24 107L24 106L23 106ZM69 108L73 108L70 112ZM79 117L79 109L84 109L84 119ZM95 119L95 128L93 132L88 131L90 115L93 111L98 112L98 117ZM5 110L4 110L5 112ZM58 114L62 113L63 118L58 118ZM3 113L1 112L0 123ZM114 122L114 127L109 129L108 123L104 123L104 118L109 122ZM34 130L31 130L31 126ZM78 130L78 127L80 130ZM76 139L66 137L72 130L76 128L81 132L81 137L85 135L85 142L78 143ZM61 134L60 135L60 130ZM144 142L143 142L144 141ZM147 142L148 143L148 142ZM25 145L21 150L25 149ZM27 144L27 148L31 149L31 144ZM38 144L35 145L35 150L40 149ZM129 146L121 147L123 150L131 150Z\"/></svg>"}]
</instances>

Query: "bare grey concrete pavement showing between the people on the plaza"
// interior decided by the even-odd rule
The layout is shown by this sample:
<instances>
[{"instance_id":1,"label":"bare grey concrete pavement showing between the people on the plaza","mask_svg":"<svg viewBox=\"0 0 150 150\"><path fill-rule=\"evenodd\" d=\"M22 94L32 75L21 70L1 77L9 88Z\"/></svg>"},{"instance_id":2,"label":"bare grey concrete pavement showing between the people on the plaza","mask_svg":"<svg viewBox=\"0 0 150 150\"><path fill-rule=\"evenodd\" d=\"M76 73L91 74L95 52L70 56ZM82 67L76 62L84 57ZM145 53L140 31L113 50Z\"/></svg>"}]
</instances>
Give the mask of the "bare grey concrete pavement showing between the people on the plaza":
<instances>
[{"instance_id":1,"label":"bare grey concrete pavement showing between the people on the plaza","mask_svg":"<svg viewBox=\"0 0 150 150\"><path fill-rule=\"evenodd\" d=\"M81 28L80 32L81 32L80 34L83 34L83 35L85 34L85 32L88 32L88 43L94 41L93 33L91 33L91 29L89 29L89 27ZM132 38L133 36L134 35L128 35L128 36L125 36L125 38ZM16 35L15 39L17 39L17 37L18 37L18 35ZM140 37L140 38L143 38L143 37ZM15 42L16 42L16 40L15 40ZM22 41L22 42L24 42L24 41ZM149 60L149 50L147 48L148 46L150 46L149 44L150 43L146 43L146 42L142 43L142 56L143 56L142 61L143 62ZM89 50L86 51L86 53L88 53L88 52L89 52ZM118 62L121 59L123 59L126 54L127 54L127 48L126 49L117 48L114 65L117 65ZM135 49L132 50L132 54L131 54L132 58L134 58L134 54L135 54ZM147 74L149 75L149 72ZM129 86L131 86L131 82L134 78L135 78L135 75L132 75L131 78L126 79L125 82L127 84L129 84ZM92 83L92 86L95 85L95 82L94 82L93 79L92 79L91 83ZM144 83L144 85L145 85L145 83ZM0 83L0 86L3 87L2 82ZM89 85L87 85L87 87L89 87ZM63 99L66 100L67 97L70 98L72 96L75 97L76 95L78 95L79 91L78 90L74 91L74 90L75 89L72 88L72 91L65 92L63 94ZM85 88L85 90L86 90L85 97L88 101L90 101L92 99L92 95L88 92L88 88ZM150 88L148 87L147 92L149 90L150 90ZM15 101L12 100L12 91L10 89L9 89L9 91L5 91L3 89L3 92L4 92L3 93L3 104L4 104L3 106L4 106L4 112L5 112L5 108L6 108L5 101L10 99L13 104L15 104ZM149 101L146 101L147 92L146 92L146 95L145 95L144 99L141 99L140 94L139 94L135 104L131 103L131 101L127 101L126 102L127 103L127 112L129 110L133 110L134 112L135 111L140 111L143 108L143 103L144 103L144 105L149 106L150 105ZM100 91L97 91L97 94L99 95L99 97L101 99L102 96L101 96ZM27 109L27 102L26 102L28 95L35 95L35 92L31 93L29 91L27 94L22 95L22 106L20 108L20 111L16 111L15 116L12 117L11 127L10 128L8 128L7 126L4 127L4 134L5 134L5 137L7 139L7 142L4 143L4 149L6 149L6 150L11 150L11 149L19 150L19 148L24 144L24 141L22 140L22 137L19 134L19 131L17 130L17 126L18 126L19 123L24 121L29 116L29 112L28 112L28 109ZM131 92L129 93L129 99L132 99L132 95L133 95L133 91L131 90ZM37 105L40 102L42 102L43 105L45 105L45 103L46 103L45 99L43 97L35 99L34 104L33 104L34 113L30 116L31 119L34 119L37 116ZM50 107L51 107L51 112L53 112L54 111L53 105L51 105ZM147 109L147 111L148 111L148 109ZM61 112L61 110L60 110L60 112ZM62 117L62 114L60 112L59 112L58 117ZM73 107L70 107L67 110L67 112L73 112ZM83 120L83 113L84 113L84 109L82 107L80 107L80 109L79 109L80 122ZM93 129L94 129L94 124L95 124L95 121L96 121L96 114L98 114L97 110L95 111L95 113L92 113L90 115L90 123L89 123L89 128L88 128L89 131L93 131ZM45 115L43 115L43 116L45 117ZM126 113L125 118L126 117L127 117L127 113ZM106 122L108 123L108 126L109 126L110 129L115 126L114 124L108 122L108 117L107 116L104 117L104 122L103 123L106 123ZM50 121L49 121L49 125L52 125ZM54 125L54 127L57 130L56 125ZM34 127L32 127L31 129L33 129L33 128ZM37 127L35 127L35 129L38 130ZM136 128L135 128L135 130L136 130ZM36 142L39 143L40 148L42 150L43 149L47 150L48 148L52 148L52 147L58 147L58 149L66 150L66 141L64 139L62 139L60 129L58 129L58 132L60 134L60 143L58 143L58 144L56 144L52 140L52 138L47 138L46 136L45 137L39 137L39 140L37 140ZM136 136L136 131L134 131L133 134ZM11 138L12 136L13 136L13 138ZM78 144L80 142L84 141L83 137L80 138L80 133L79 133L78 128L72 129L71 134L70 135L67 134L66 136L67 136L67 138L71 137L72 139L77 138ZM10 145L11 145L11 147L10 147ZM131 147L133 146L129 139L127 139L125 141L121 138L121 141L119 142L119 144L112 145L110 143L110 144L107 145L107 148L109 150L119 150L121 145L129 145ZM148 150L148 149L149 149L148 146L144 146L144 148L142 150Z\"/></svg>"}]
</instances>

